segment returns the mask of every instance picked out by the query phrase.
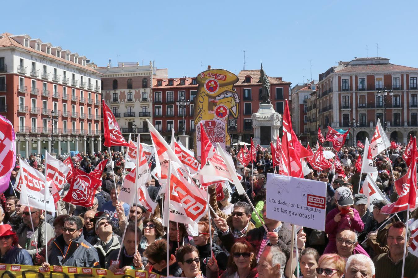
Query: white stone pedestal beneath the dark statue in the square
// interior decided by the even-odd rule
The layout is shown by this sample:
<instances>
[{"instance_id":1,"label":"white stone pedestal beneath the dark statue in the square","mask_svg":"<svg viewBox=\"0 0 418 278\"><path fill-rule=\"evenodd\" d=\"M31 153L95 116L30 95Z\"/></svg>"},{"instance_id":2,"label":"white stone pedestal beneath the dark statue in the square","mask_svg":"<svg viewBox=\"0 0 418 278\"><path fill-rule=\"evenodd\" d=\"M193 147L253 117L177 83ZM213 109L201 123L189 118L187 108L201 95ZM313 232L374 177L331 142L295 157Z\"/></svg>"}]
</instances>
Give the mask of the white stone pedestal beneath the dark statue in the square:
<instances>
[{"instance_id":1,"label":"white stone pedestal beneath the dark statue in the square","mask_svg":"<svg viewBox=\"0 0 418 278\"><path fill-rule=\"evenodd\" d=\"M272 104L260 104L257 113L252 113L252 128L254 128L254 144L263 148L270 147L270 141L275 142L279 135L282 116L277 113Z\"/></svg>"}]
</instances>

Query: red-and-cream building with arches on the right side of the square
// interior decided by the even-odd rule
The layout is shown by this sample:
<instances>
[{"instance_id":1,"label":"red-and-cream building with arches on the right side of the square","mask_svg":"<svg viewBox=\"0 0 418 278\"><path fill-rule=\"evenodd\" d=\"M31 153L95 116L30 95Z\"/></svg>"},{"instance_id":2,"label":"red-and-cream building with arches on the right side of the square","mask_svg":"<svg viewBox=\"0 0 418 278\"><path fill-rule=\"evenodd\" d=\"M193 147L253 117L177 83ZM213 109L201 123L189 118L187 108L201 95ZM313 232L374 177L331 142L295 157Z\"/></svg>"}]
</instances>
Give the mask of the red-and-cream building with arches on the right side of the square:
<instances>
[{"instance_id":1,"label":"red-and-cream building with arches on the right side of the square","mask_svg":"<svg viewBox=\"0 0 418 278\"><path fill-rule=\"evenodd\" d=\"M380 118L392 140L407 143L409 134L417 133L417 78L418 68L394 65L388 58L339 62L319 75L316 104L321 129L325 133L327 125L337 130L351 127L352 144L353 134L355 140L370 139ZM385 88L386 105L379 94Z\"/></svg>"}]
</instances>

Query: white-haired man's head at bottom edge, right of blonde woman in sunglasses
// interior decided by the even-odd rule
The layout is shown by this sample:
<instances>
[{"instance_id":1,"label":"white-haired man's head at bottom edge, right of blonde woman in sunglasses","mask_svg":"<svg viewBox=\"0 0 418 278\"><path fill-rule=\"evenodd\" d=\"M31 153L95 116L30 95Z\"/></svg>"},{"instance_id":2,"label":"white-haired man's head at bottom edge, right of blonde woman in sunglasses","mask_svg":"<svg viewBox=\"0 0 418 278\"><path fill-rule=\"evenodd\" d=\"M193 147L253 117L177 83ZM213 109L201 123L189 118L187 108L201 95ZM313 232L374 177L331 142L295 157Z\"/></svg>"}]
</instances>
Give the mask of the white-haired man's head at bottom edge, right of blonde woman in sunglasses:
<instances>
[{"instance_id":1,"label":"white-haired man's head at bottom edge, right of blonde woman in sunglasses","mask_svg":"<svg viewBox=\"0 0 418 278\"><path fill-rule=\"evenodd\" d=\"M351 255L345 264L344 275L345 278L375 278L375 265L365 255Z\"/></svg>"}]
</instances>

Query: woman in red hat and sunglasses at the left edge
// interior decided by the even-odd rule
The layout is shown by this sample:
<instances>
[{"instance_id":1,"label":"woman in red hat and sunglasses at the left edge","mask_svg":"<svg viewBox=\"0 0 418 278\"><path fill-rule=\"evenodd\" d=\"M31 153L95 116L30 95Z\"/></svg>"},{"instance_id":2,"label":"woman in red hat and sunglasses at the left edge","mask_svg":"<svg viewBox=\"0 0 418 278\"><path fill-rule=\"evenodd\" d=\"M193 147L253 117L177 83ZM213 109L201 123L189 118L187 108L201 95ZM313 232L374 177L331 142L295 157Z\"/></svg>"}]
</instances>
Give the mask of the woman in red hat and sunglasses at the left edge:
<instances>
[{"instance_id":1,"label":"woman in red hat and sunglasses at the left edge","mask_svg":"<svg viewBox=\"0 0 418 278\"><path fill-rule=\"evenodd\" d=\"M8 224L0 225L0 263L33 265L28 251L18 247L19 239Z\"/></svg>"}]
</instances>

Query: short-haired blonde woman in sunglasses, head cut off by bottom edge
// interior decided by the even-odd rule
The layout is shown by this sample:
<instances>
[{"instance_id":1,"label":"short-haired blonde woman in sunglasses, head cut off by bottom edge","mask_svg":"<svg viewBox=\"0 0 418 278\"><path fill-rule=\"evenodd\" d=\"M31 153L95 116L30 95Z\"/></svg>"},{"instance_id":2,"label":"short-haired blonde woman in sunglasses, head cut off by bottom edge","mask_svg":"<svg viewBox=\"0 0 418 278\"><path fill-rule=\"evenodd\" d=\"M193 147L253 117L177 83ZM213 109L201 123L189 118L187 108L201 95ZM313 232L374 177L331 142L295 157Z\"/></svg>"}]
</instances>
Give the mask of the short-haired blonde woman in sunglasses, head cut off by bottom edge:
<instances>
[{"instance_id":1,"label":"short-haired blonde woman in sunglasses, head cut off by bottom edge","mask_svg":"<svg viewBox=\"0 0 418 278\"><path fill-rule=\"evenodd\" d=\"M319 257L316 274L318 278L342 278L344 268L345 260L338 254L324 254Z\"/></svg>"}]
</instances>

